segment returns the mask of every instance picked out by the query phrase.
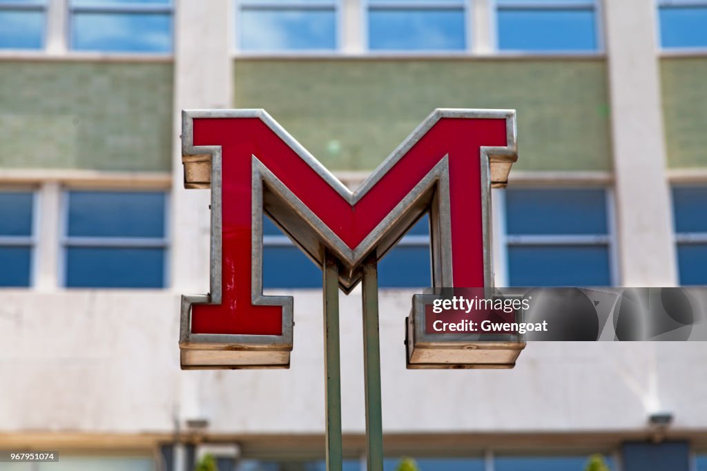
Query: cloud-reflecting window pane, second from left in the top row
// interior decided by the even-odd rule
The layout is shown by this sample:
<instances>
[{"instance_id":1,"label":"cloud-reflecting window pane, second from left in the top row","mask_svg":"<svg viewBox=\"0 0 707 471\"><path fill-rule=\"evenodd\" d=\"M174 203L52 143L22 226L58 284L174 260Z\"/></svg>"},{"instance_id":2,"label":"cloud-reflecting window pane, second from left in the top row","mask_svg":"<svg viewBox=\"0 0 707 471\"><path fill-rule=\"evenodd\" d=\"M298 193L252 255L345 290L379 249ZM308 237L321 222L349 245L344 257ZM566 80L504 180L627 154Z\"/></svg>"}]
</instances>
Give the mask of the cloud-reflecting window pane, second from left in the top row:
<instances>
[{"instance_id":1,"label":"cloud-reflecting window pane, second from left in the top row","mask_svg":"<svg viewBox=\"0 0 707 471\"><path fill-rule=\"evenodd\" d=\"M168 13L74 13L71 45L80 51L170 52Z\"/></svg>"}]
</instances>

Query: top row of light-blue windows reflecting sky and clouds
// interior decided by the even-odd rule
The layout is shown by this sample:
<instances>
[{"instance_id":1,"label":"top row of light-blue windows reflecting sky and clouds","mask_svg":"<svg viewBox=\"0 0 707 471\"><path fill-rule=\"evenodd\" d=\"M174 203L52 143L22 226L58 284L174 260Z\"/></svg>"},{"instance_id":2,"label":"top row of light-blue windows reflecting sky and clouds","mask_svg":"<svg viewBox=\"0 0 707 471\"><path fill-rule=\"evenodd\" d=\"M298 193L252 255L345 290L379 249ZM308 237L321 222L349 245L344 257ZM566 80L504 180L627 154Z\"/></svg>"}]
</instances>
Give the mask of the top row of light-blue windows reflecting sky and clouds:
<instances>
[{"instance_id":1,"label":"top row of light-blue windows reflecting sky and clouds","mask_svg":"<svg viewBox=\"0 0 707 471\"><path fill-rule=\"evenodd\" d=\"M0 0L0 47L41 49L47 0ZM361 0L371 51L464 51L474 0ZM335 51L341 0L238 0L236 47L244 52ZM602 49L597 0L496 0L500 51ZM707 47L707 0L660 0L660 44ZM170 52L170 0L69 0L69 47Z\"/></svg>"}]
</instances>

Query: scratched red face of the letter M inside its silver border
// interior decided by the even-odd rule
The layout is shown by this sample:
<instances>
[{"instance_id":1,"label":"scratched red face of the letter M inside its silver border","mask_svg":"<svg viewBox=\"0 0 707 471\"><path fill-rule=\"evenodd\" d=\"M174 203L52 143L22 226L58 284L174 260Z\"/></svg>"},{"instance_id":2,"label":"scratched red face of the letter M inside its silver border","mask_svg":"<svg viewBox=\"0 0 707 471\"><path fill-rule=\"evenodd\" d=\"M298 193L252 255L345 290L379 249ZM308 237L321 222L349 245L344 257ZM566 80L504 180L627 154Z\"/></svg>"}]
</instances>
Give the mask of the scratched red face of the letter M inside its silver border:
<instances>
[{"instance_id":1,"label":"scratched red face of the letter M inside its silver border","mask_svg":"<svg viewBox=\"0 0 707 471\"><path fill-rule=\"evenodd\" d=\"M506 146L506 120L439 120L354 207L257 118L194 119L194 145L221 146L223 198L222 303L192 307L194 333L282 333L281 307L250 303L252 155L353 249L448 154L455 286L484 286L479 151Z\"/></svg>"}]
</instances>

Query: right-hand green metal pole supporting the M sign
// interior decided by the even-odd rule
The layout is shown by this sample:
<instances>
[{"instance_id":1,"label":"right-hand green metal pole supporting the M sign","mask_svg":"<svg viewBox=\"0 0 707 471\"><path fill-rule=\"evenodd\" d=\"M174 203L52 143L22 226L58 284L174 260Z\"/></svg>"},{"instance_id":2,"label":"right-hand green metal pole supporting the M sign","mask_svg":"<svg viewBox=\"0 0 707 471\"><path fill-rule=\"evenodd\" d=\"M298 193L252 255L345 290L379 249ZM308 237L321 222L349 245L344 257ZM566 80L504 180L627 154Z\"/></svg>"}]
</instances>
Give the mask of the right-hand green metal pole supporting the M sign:
<instances>
[{"instance_id":1,"label":"right-hand green metal pole supporting the M sign","mask_svg":"<svg viewBox=\"0 0 707 471\"><path fill-rule=\"evenodd\" d=\"M380 335L378 333L378 262L363 264L363 364L366 377L366 471L383 470L380 411Z\"/></svg>"}]
</instances>

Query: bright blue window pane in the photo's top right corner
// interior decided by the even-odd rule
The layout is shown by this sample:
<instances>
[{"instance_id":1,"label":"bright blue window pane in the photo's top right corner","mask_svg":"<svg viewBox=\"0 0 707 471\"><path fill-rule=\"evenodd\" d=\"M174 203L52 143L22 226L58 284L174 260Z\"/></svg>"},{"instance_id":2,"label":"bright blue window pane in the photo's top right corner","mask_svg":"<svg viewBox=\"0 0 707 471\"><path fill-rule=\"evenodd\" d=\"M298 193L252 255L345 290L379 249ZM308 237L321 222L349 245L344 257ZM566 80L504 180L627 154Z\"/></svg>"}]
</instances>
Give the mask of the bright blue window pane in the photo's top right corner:
<instances>
[{"instance_id":1,"label":"bright blue window pane in the photo's top right corner","mask_svg":"<svg viewBox=\"0 0 707 471\"><path fill-rule=\"evenodd\" d=\"M707 46L707 7L660 8L662 47Z\"/></svg>"}]
</instances>

